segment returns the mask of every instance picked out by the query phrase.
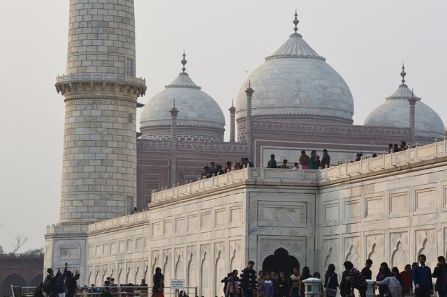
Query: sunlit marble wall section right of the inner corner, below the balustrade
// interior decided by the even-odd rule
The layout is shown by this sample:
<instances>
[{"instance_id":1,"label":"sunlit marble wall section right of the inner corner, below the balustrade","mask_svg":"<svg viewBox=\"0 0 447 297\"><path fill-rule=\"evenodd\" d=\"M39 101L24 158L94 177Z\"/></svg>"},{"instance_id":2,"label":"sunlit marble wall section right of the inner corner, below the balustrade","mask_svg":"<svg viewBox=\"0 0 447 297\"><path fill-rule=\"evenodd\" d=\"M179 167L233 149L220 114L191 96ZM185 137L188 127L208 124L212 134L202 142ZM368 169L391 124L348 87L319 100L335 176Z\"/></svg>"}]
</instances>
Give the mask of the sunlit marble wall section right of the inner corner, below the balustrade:
<instances>
[{"instance_id":1,"label":"sunlit marble wall section right of the inner corner, below the balustrade","mask_svg":"<svg viewBox=\"0 0 447 297\"><path fill-rule=\"evenodd\" d=\"M362 268L370 258L374 275L383 261L402 271L418 254L432 267L446 256L446 165L328 185L319 197L322 271L346 260Z\"/></svg>"}]
</instances>

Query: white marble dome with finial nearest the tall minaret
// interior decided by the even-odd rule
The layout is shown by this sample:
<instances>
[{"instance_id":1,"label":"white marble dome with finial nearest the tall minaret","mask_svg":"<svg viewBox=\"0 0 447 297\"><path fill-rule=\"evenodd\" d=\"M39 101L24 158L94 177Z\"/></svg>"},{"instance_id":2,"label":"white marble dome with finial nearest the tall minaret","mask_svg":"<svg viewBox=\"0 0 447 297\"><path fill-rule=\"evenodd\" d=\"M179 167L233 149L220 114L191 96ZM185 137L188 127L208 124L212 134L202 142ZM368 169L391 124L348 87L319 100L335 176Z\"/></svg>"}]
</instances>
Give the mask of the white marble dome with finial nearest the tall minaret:
<instances>
[{"instance_id":1,"label":"white marble dome with finial nearest the tall minaret","mask_svg":"<svg viewBox=\"0 0 447 297\"><path fill-rule=\"evenodd\" d=\"M196 142L222 142L225 118L217 102L185 72L185 54L182 73L166 89L152 97L142 109L140 130L142 139L170 139L170 109L178 109L177 137Z\"/></svg>"}]
</instances>

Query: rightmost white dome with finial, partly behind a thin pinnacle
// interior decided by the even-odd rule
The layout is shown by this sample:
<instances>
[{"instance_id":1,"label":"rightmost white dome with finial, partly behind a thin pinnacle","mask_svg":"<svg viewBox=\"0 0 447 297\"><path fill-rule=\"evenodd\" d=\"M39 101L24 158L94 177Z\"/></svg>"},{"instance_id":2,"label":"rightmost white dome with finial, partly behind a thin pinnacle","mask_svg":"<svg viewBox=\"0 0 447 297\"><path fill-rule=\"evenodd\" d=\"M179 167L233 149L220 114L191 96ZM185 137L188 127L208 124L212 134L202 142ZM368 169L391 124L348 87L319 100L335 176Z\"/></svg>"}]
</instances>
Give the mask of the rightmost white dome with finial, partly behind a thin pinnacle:
<instances>
[{"instance_id":1,"label":"rightmost white dome with finial, partly behind a thin pinnacle","mask_svg":"<svg viewBox=\"0 0 447 297\"><path fill-rule=\"evenodd\" d=\"M405 84L405 67L402 65L402 84L397 90L370 112L364 125L376 127L409 128L410 127L410 98L416 98L414 105L414 130L416 138L443 139L444 123L433 109L421 102L420 98Z\"/></svg>"}]
</instances>

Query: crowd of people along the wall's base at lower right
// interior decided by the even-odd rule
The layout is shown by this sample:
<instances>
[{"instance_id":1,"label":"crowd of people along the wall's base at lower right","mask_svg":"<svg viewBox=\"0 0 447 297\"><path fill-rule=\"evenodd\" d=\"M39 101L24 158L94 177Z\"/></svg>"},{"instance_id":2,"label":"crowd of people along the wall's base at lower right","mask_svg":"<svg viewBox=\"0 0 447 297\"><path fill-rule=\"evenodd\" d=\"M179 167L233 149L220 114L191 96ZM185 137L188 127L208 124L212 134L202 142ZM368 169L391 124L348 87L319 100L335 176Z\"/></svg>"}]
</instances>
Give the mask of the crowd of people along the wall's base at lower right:
<instances>
[{"instance_id":1,"label":"crowd of people along the wall's base at lower right","mask_svg":"<svg viewBox=\"0 0 447 297\"><path fill-rule=\"evenodd\" d=\"M285 271L254 271L254 261L249 261L247 268L240 275L234 270L221 280L224 283L223 294L226 297L304 297L305 280L316 277L323 280L322 296L335 297L337 292L342 297L355 296L355 290L360 297L366 297L367 280L373 280L379 290L379 297L402 297L413 294L415 297L430 297L433 295L432 278L436 278L434 286L439 297L447 297L447 264L443 256L438 257L437 266L432 271L425 265L426 257L420 254L418 263L406 264L403 271L399 268L389 268L386 262L380 264L379 273L373 278L371 267L373 262L367 259L365 267L359 271L351 261L344 262L344 271L339 281L335 265L329 264L322 278L320 273L311 274L309 267L293 269L292 275Z\"/></svg>"}]
</instances>

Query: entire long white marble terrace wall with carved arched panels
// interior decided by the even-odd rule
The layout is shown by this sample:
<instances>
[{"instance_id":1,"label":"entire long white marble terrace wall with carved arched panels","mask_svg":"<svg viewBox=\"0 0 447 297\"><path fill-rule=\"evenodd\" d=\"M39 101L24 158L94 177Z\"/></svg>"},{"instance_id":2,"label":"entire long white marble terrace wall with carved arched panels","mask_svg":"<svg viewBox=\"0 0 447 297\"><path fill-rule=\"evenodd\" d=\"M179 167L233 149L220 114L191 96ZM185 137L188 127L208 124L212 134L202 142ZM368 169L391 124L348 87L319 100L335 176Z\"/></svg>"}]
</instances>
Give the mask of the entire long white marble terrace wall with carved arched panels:
<instances>
[{"instance_id":1,"label":"entire long white marble terrace wall with carved arched panels","mask_svg":"<svg viewBox=\"0 0 447 297\"><path fill-rule=\"evenodd\" d=\"M81 285L151 284L158 266L167 286L185 279L198 296L221 296L228 271L249 260L259 270L279 248L321 273L368 258L374 274L382 261L402 270L420 253L434 267L446 255L446 169L441 157L319 182L323 172L244 169L237 183L157 193L142 213L48 227L45 266L79 267Z\"/></svg>"}]
</instances>

